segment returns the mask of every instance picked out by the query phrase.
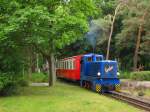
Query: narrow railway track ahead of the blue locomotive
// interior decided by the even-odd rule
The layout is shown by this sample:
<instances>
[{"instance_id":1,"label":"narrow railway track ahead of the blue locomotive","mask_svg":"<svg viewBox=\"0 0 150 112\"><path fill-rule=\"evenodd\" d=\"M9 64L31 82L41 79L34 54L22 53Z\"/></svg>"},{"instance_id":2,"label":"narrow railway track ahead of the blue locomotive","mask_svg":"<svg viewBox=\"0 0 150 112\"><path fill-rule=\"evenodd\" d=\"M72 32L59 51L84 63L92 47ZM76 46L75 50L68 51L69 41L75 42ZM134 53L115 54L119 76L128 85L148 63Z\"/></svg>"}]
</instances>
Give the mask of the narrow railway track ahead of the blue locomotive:
<instances>
[{"instance_id":1,"label":"narrow railway track ahead of the blue locomotive","mask_svg":"<svg viewBox=\"0 0 150 112\"><path fill-rule=\"evenodd\" d=\"M107 96L113 97L115 99L130 103L134 106L136 106L137 108L146 110L148 112L150 112L150 101L141 99L141 98L137 98L137 97L133 97L129 94L125 94L125 93L119 93L119 92L109 92L109 94L106 94Z\"/></svg>"}]
</instances>

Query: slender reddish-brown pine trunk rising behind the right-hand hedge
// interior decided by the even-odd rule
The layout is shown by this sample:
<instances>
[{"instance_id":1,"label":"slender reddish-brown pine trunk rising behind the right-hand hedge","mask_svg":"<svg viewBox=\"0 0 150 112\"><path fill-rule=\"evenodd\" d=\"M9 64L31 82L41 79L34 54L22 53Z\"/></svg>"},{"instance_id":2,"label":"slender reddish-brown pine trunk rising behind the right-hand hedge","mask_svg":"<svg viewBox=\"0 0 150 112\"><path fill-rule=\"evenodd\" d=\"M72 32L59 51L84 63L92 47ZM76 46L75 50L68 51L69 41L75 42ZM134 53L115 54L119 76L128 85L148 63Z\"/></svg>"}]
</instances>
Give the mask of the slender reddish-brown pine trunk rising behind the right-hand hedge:
<instances>
[{"instance_id":1,"label":"slender reddish-brown pine trunk rising behind the right-hand hedge","mask_svg":"<svg viewBox=\"0 0 150 112\"><path fill-rule=\"evenodd\" d=\"M134 52L134 57L133 57L133 71L137 71L138 52L139 52L140 42L141 42L141 33L143 31L143 22L144 22L146 14L147 14L147 11L145 11L145 13L143 14L141 18L142 22L140 23L139 30L138 30L137 42L136 42L136 47L135 47L135 52Z\"/></svg>"}]
</instances>

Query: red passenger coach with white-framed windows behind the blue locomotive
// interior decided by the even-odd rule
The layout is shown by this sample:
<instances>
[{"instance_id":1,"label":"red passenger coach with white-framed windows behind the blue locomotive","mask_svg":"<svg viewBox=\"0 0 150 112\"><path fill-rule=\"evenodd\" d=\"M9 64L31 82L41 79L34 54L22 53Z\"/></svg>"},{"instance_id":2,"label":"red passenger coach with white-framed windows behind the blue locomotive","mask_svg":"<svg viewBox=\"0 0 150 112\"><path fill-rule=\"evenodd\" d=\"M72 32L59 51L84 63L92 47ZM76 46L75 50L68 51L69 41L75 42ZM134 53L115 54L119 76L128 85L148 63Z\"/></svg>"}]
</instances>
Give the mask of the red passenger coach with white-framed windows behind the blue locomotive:
<instances>
[{"instance_id":1,"label":"red passenger coach with white-framed windows behind the blue locomotive","mask_svg":"<svg viewBox=\"0 0 150 112\"><path fill-rule=\"evenodd\" d=\"M56 75L73 81L80 80L80 60L82 55L73 56L57 62Z\"/></svg>"}]
</instances>

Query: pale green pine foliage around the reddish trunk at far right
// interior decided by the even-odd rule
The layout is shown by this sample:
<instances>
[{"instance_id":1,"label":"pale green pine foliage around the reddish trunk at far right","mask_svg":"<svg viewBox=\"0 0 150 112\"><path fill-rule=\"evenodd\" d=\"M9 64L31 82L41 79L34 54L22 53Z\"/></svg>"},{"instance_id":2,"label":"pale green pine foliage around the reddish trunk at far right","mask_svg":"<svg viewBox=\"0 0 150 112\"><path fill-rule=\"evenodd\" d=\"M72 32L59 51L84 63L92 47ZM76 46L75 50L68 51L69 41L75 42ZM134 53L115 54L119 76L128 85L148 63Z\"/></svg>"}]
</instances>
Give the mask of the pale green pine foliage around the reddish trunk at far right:
<instances>
[{"instance_id":1,"label":"pale green pine foliage around the reddish trunk at far right","mask_svg":"<svg viewBox=\"0 0 150 112\"><path fill-rule=\"evenodd\" d=\"M126 7L120 10L121 16L123 17L123 26L121 28L121 32L116 36L116 53L119 54L122 67L128 70L132 70L133 55L135 52L140 24L142 24L143 30L140 40L140 49L138 52L138 64L145 65L145 70L148 70L149 68L149 4L150 1L148 0L131 0L130 2L127 2ZM144 13L146 13L146 16L142 21L142 16ZM126 63L126 66L124 63Z\"/></svg>"}]
</instances>

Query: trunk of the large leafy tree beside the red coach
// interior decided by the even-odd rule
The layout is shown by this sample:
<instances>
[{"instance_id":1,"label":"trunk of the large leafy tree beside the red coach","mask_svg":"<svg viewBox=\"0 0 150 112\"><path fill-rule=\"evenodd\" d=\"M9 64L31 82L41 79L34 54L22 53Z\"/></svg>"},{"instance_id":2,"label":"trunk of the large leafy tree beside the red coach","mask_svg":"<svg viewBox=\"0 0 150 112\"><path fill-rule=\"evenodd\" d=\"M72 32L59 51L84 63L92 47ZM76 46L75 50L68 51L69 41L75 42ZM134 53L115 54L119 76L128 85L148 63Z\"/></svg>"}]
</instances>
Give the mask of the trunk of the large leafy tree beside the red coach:
<instances>
[{"instance_id":1,"label":"trunk of the large leafy tree beside the red coach","mask_svg":"<svg viewBox=\"0 0 150 112\"><path fill-rule=\"evenodd\" d=\"M56 72L55 72L55 60L54 55L51 54L50 57L47 57L48 62L48 82L49 86L53 86L56 80Z\"/></svg>"}]
</instances>

